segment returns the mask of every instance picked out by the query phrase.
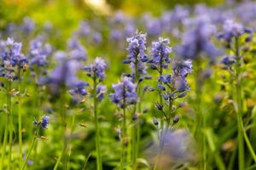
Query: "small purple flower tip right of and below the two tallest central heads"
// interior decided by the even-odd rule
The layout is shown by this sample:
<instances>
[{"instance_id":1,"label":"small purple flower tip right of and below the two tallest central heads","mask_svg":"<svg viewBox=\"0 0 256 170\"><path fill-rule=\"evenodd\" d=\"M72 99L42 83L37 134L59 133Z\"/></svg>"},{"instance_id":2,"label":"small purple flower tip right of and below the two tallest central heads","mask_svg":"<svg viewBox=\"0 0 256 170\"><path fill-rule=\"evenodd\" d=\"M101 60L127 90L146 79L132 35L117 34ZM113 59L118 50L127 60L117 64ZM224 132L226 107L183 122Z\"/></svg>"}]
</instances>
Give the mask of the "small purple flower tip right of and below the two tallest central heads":
<instances>
[{"instance_id":1,"label":"small purple flower tip right of and below the two tallest central heads","mask_svg":"<svg viewBox=\"0 0 256 170\"><path fill-rule=\"evenodd\" d=\"M172 66L173 74L180 77L187 77L192 71L192 61L187 60L176 60Z\"/></svg>"}]
</instances>

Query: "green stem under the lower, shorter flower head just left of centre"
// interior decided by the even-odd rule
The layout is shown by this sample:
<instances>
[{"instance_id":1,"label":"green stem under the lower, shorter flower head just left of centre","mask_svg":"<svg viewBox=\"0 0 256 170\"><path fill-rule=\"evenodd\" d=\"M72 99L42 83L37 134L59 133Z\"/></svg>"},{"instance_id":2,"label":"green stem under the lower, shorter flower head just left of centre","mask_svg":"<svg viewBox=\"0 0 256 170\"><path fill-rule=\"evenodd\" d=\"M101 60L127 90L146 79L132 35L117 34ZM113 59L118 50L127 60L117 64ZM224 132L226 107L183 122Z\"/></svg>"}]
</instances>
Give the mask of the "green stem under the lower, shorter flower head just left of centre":
<instances>
[{"instance_id":1,"label":"green stem under the lower, shorter flower head just left of centre","mask_svg":"<svg viewBox=\"0 0 256 170\"><path fill-rule=\"evenodd\" d=\"M125 84L124 84L124 92L123 92L123 124L122 124L122 149L121 149L121 159L120 159L120 170L124 169L124 164L126 160L126 105L125 105Z\"/></svg>"}]
</instances>

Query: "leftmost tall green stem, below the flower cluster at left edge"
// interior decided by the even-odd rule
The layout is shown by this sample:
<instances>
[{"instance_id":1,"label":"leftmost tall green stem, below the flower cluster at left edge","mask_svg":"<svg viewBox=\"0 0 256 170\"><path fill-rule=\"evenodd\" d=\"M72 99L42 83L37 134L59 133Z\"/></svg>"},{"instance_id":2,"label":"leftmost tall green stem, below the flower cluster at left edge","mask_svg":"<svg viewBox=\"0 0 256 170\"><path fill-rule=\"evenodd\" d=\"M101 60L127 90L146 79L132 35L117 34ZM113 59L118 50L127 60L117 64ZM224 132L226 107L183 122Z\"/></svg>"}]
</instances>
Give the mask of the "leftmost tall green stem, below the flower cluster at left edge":
<instances>
[{"instance_id":1,"label":"leftmost tall green stem, below the flower cluster at left edge","mask_svg":"<svg viewBox=\"0 0 256 170\"><path fill-rule=\"evenodd\" d=\"M11 82L8 81L8 101L7 101L7 106L8 106L8 113L9 113L9 159L8 159L8 169L11 169L11 163L12 163L12 146L13 146L13 113L12 113L12 102L11 102Z\"/></svg>"}]
</instances>

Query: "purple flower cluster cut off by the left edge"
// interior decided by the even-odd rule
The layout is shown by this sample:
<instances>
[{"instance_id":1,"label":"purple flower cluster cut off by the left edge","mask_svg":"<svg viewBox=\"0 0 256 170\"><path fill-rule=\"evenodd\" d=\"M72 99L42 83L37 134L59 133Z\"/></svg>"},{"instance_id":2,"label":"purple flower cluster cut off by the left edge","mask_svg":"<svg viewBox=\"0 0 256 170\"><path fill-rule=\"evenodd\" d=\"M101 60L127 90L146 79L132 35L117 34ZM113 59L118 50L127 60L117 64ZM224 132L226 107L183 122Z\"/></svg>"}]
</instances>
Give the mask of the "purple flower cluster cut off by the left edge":
<instances>
[{"instance_id":1,"label":"purple flower cluster cut off by the left edge","mask_svg":"<svg viewBox=\"0 0 256 170\"><path fill-rule=\"evenodd\" d=\"M1 42L0 45L1 65L0 76L7 78L9 81L17 79L21 71L26 71L28 59L21 54L21 43L15 42L14 39L8 38L7 41Z\"/></svg>"}]
</instances>

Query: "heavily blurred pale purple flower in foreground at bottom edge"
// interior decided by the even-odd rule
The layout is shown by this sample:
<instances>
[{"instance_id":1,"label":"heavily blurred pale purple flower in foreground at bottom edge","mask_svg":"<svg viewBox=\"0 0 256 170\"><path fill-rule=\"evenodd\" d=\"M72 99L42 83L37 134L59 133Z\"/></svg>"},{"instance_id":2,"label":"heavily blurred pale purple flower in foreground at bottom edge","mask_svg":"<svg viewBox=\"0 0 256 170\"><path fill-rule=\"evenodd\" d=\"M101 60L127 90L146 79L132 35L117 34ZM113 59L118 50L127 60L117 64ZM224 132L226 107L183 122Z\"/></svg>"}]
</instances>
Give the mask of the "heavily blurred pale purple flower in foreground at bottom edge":
<instances>
[{"instance_id":1,"label":"heavily blurred pale purple flower in foreground at bottom edge","mask_svg":"<svg viewBox=\"0 0 256 170\"><path fill-rule=\"evenodd\" d=\"M164 170L183 163L194 164L198 159L195 140L183 129L163 133L160 143L163 144L163 148L154 145L148 149L148 160L157 162Z\"/></svg>"}]
</instances>

